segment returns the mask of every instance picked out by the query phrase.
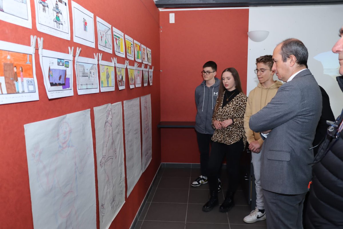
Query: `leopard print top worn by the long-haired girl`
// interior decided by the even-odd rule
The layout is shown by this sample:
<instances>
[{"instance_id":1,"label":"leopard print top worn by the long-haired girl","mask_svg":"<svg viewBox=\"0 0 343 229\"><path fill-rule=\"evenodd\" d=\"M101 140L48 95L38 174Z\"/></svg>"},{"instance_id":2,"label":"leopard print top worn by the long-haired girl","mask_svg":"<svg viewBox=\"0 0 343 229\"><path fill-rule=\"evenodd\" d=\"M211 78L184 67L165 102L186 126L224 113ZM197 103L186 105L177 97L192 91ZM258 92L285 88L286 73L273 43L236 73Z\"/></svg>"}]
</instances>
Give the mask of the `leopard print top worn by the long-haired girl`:
<instances>
[{"instance_id":1,"label":"leopard print top worn by the long-haired girl","mask_svg":"<svg viewBox=\"0 0 343 229\"><path fill-rule=\"evenodd\" d=\"M212 141L221 142L226 145L231 145L239 141L243 137L244 148L247 142L247 137L244 131L244 113L247 107L247 96L243 93L239 93L235 96L228 104L223 106L223 98L217 99L217 103L221 103L218 107L218 111L213 113L212 117L212 127L214 128L213 121L224 121L226 119L232 118L234 123L224 129L215 129L212 136Z\"/></svg>"}]
</instances>

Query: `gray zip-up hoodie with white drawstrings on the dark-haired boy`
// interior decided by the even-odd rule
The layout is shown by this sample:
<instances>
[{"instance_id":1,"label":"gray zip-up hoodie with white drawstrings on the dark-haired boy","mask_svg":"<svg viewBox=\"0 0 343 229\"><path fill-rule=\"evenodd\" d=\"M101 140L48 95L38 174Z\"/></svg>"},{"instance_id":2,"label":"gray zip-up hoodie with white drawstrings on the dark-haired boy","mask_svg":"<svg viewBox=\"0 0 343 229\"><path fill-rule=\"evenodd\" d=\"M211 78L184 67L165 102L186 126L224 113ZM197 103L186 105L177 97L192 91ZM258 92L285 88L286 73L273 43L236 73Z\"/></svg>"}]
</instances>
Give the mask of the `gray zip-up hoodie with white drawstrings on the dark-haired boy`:
<instances>
[{"instance_id":1,"label":"gray zip-up hoodie with white drawstrings on the dark-haired boy","mask_svg":"<svg viewBox=\"0 0 343 229\"><path fill-rule=\"evenodd\" d=\"M215 83L211 87L207 87L206 81L203 81L195 89L195 103L197 105L195 130L201 134L214 133L214 129L212 128L212 115L218 97L220 83L221 81L215 78Z\"/></svg>"}]
</instances>

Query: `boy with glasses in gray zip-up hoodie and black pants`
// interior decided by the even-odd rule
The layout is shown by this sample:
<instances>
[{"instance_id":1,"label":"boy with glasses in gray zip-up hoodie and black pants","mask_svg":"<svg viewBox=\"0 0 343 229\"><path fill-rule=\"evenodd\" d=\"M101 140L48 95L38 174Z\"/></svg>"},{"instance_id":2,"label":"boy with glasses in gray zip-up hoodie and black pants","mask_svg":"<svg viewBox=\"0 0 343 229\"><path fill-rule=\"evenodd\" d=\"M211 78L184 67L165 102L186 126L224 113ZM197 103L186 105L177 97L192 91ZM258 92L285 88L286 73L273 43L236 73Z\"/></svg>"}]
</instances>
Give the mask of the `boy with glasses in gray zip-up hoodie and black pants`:
<instances>
[{"instance_id":1,"label":"boy with glasses in gray zip-up hoodie and black pants","mask_svg":"<svg viewBox=\"0 0 343 229\"><path fill-rule=\"evenodd\" d=\"M207 165L212 143L211 138L214 133L212 115L221 83L221 80L215 77L217 75L217 64L214 61L206 62L201 73L204 81L195 89L195 103L197 105L195 130L200 151L201 175L191 184L193 187L198 187L208 182ZM220 190L221 184L218 183L218 192Z\"/></svg>"}]
</instances>

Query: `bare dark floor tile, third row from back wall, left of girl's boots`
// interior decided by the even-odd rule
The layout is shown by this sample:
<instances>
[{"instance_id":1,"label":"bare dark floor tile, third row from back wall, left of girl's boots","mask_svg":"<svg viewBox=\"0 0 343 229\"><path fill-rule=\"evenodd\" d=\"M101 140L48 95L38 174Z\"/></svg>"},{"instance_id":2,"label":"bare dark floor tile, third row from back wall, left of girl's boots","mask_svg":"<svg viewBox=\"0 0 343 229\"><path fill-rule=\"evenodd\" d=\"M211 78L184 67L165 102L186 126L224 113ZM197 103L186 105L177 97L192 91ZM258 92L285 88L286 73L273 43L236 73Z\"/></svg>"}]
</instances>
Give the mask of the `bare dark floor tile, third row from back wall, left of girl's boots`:
<instances>
[{"instance_id":1,"label":"bare dark floor tile, third row from back wall, left of girl's boots","mask_svg":"<svg viewBox=\"0 0 343 229\"><path fill-rule=\"evenodd\" d=\"M188 200L188 189L157 188L152 202L185 203Z\"/></svg>"}]
</instances>

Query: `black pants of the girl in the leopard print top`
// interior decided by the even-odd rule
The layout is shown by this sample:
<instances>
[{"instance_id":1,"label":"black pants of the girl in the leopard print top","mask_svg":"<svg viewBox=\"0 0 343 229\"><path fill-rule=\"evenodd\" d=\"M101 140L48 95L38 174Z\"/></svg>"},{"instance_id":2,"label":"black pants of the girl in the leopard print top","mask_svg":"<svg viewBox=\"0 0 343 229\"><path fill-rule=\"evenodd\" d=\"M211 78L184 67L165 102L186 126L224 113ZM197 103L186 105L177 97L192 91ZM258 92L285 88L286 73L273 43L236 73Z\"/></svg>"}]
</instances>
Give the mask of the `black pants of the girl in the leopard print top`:
<instances>
[{"instance_id":1,"label":"black pants of the girl in the leopard print top","mask_svg":"<svg viewBox=\"0 0 343 229\"><path fill-rule=\"evenodd\" d=\"M244 150L243 139L231 145L226 145L220 142L213 142L209 159L209 184L210 192L216 191L218 188L218 174L224 157L226 157L226 173L228 179L228 192L236 192L238 186L239 175L239 160L241 153Z\"/></svg>"}]
</instances>

